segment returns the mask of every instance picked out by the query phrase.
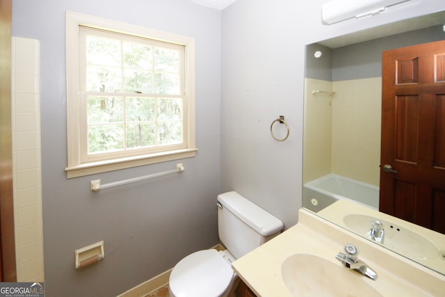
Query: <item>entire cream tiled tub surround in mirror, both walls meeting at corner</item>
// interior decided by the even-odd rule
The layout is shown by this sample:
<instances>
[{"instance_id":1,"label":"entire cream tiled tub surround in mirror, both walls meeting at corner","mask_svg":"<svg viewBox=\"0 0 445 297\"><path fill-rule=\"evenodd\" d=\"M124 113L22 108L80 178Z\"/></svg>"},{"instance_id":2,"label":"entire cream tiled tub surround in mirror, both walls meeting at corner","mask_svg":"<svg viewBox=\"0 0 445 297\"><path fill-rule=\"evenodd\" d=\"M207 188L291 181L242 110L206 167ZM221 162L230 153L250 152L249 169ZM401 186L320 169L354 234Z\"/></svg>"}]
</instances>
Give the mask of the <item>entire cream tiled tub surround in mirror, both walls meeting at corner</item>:
<instances>
[{"instance_id":1,"label":"entire cream tiled tub surround in mirror, both walls meeting at corner","mask_svg":"<svg viewBox=\"0 0 445 297\"><path fill-rule=\"evenodd\" d=\"M303 183L335 173L379 184L381 81L305 79Z\"/></svg>"}]
</instances>

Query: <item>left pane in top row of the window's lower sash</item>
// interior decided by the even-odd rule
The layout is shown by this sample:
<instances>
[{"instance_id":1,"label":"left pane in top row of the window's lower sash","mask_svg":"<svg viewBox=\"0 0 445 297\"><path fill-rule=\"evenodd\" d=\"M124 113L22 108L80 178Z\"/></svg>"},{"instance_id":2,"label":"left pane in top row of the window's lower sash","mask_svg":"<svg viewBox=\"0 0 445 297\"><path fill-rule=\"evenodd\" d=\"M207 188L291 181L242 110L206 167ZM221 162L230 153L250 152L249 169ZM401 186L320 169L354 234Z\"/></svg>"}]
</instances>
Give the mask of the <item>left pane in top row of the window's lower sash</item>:
<instances>
[{"instance_id":1,"label":"left pane in top row of the window's lower sash","mask_svg":"<svg viewBox=\"0 0 445 297\"><path fill-rule=\"evenodd\" d=\"M124 100L122 97L87 98L87 123L102 124L124 122Z\"/></svg>"}]
</instances>

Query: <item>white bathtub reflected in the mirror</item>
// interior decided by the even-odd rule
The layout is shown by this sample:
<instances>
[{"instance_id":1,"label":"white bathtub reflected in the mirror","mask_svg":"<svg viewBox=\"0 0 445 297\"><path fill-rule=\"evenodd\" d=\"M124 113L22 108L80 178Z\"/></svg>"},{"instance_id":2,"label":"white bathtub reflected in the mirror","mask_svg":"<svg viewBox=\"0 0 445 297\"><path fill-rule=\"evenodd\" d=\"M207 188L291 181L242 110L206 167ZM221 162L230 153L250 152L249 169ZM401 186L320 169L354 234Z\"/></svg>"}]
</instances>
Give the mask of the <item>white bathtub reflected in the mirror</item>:
<instances>
[{"instance_id":1,"label":"white bathtub reflected in the mirror","mask_svg":"<svg viewBox=\"0 0 445 297\"><path fill-rule=\"evenodd\" d=\"M303 207L320 211L339 199L378 210L378 186L330 173L303 186Z\"/></svg>"}]
</instances>

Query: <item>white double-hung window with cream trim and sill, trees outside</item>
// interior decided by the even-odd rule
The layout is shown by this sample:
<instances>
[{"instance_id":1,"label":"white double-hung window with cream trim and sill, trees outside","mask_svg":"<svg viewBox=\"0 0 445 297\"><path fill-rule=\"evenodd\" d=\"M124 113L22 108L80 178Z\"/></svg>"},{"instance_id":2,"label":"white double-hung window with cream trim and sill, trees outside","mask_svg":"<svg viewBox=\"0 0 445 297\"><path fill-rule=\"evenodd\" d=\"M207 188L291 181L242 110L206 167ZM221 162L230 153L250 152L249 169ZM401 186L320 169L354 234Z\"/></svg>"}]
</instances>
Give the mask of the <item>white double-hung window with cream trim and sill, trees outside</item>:
<instances>
[{"instance_id":1,"label":"white double-hung window with cream trim and sill, trees outside","mask_svg":"<svg viewBox=\"0 0 445 297\"><path fill-rule=\"evenodd\" d=\"M67 13L67 177L195 156L194 40Z\"/></svg>"}]
</instances>

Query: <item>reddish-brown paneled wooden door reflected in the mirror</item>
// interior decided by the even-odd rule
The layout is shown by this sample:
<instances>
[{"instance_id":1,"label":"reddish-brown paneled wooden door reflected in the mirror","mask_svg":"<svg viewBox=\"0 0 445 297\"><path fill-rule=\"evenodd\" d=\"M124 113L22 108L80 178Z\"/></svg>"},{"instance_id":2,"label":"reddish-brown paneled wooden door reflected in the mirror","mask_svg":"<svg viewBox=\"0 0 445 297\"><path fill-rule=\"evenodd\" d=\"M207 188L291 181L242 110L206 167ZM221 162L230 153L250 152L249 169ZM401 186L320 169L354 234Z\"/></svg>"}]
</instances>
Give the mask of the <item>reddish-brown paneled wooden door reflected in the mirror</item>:
<instances>
[{"instance_id":1,"label":"reddish-brown paneled wooden door reflected in the mirror","mask_svg":"<svg viewBox=\"0 0 445 297\"><path fill-rule=\"evenodd\" d=\"M380 211L445 233L445 40L382 54Z\"/></svg>"}]
</instances>

